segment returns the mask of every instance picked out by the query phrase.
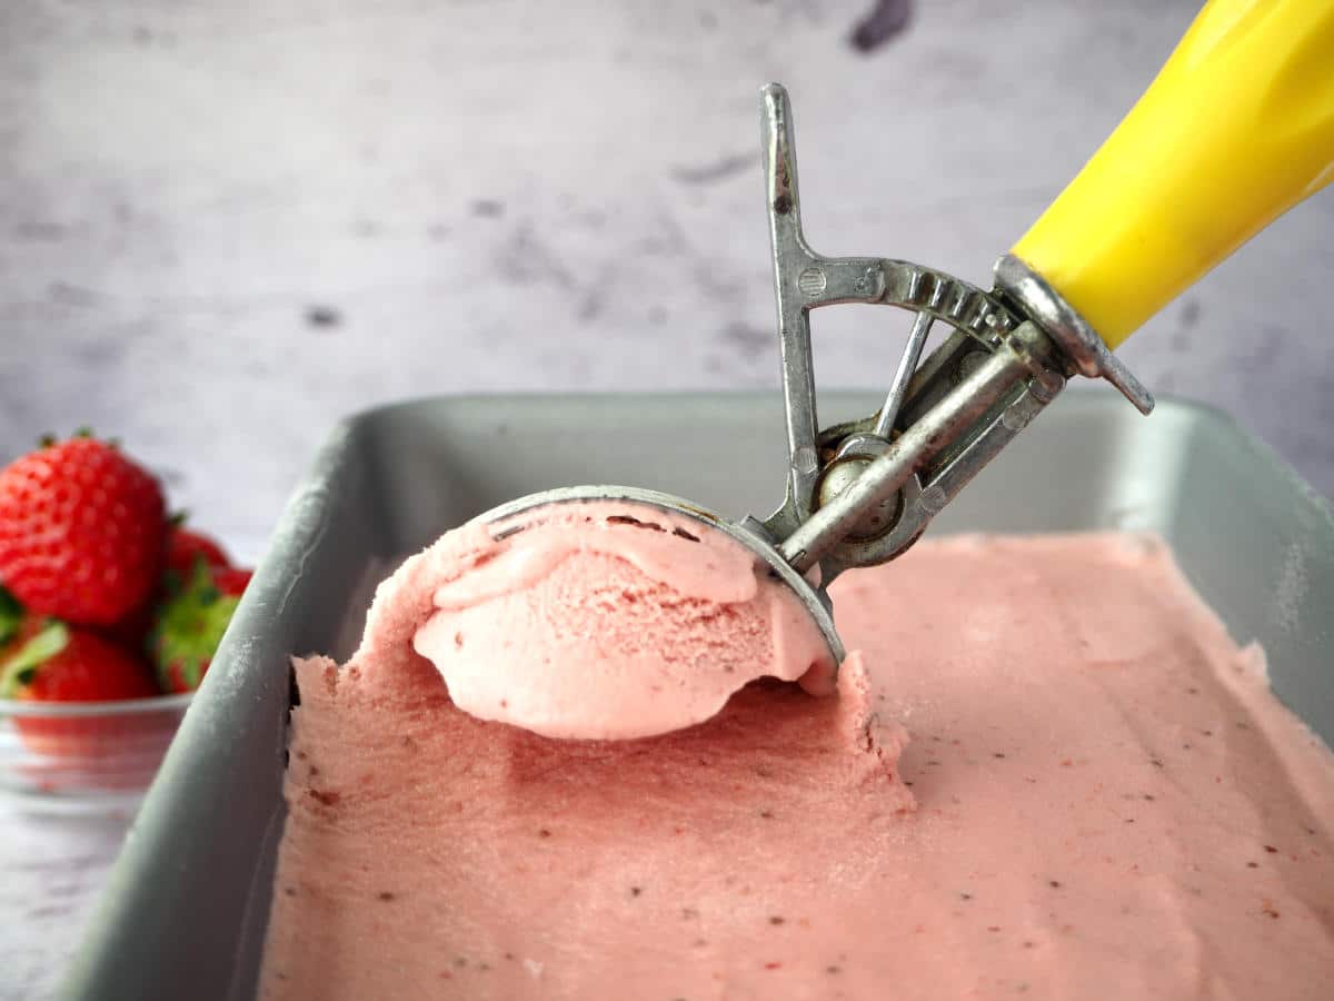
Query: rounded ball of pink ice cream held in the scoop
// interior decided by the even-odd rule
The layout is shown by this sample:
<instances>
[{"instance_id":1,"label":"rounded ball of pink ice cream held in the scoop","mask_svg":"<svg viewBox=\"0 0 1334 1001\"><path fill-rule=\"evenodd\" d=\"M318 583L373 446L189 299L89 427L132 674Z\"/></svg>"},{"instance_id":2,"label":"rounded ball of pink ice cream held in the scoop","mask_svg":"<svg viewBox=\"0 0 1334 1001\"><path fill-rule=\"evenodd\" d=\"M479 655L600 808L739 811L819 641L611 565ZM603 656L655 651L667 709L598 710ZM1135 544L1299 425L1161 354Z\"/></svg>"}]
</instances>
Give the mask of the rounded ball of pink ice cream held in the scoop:
<instances>
[{"instance_id":1,"label":"rounded ball of pink ice cream held in the scoop","mask_svg":"<svg viewBox=\"0 0 1334 1001\"><path fill-rule=\"evenodd\" d=\"M644 503L547 505L450 533L395 575L391 602L415 610L424 591L412 643L454 705L547 737L680 730L762 675L832 691L824 638L767 565Z\"/></svg>"}]
</instances>

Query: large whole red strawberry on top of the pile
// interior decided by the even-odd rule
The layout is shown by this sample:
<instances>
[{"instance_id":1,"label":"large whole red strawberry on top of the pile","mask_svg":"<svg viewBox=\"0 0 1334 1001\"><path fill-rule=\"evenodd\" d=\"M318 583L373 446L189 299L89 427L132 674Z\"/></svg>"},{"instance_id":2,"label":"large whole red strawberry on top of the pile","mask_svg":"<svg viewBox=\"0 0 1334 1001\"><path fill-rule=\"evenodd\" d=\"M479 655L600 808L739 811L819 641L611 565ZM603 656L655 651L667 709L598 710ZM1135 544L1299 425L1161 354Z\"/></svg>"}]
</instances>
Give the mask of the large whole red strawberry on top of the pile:
<instances>
[{"instance_id":1,"label":"large whole red strawberry on top of the pile","mask_svg":"<svg viewBox=\"0 0 1334 1001\"><path fill-rule=\"evenodd\" d=\"M29 611L109 626L157 583L161 488L113 444L75 436L0 471L0 581Z\"/></svg>"}]
</instances>

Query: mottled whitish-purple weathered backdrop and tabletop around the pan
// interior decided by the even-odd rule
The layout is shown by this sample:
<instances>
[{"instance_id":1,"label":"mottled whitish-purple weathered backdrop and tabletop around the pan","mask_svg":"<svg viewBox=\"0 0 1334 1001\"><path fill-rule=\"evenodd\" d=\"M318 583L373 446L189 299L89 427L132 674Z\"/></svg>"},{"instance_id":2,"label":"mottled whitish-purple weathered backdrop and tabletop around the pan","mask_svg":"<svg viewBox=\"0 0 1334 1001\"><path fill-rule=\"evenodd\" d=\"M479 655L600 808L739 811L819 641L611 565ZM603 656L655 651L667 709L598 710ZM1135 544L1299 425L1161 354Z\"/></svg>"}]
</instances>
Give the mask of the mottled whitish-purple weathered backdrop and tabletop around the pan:
<instances>
[{"instance_id":1,"label":"mottled whitish-purple weathered backdrop and tabletop around the pan","mask_svg":"<svg viewBox=\"0 0 1334 1001\"><path fill-rule=\"evenodd\" d=\"M0 459L92 423L251 538L351 410L776 386L760 83L816 247L984 283L1195 5L922 0L859 55L867 7L0 4ZM1125 356L1331 492L1331 276L1326 191ZM883 386L888 320L818 315L822 383ZM40 994L109 850L0 829L0 994Z\"/></svg>"}]
</instances>

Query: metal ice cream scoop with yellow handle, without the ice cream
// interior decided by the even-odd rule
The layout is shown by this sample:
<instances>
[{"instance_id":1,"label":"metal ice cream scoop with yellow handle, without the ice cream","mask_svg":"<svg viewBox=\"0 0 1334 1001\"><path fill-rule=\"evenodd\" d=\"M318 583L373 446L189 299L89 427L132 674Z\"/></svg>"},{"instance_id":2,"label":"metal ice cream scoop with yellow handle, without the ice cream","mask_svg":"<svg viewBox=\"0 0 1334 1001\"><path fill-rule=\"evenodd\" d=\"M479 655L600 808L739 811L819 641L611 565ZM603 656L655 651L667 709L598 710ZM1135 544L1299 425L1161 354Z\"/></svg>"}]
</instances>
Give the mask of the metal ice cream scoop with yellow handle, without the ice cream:
<instances>
[{"instance_id":1,"label":"metal ice cream scoop with yellow handle, without the ice cream","mask_svg":"<svg viewBox=\"0 0 1334 1001\"><path fill-rule=\"evenodd\" d=\"M812 251L802 235L787 92L767 85L763 161L788 439L783 505L764 519L728 522L667 494L587 486L520 498L483 521L608 498L699 519L783 579L842 661L830 582L907 550L1069 378L1107 379L1149 414L1153 398L1111 350L1334 179L1331 52L1331 4L1211 0L1118 129L1000 258L988 292L903 260ZM911 331L880 410L820 430L810 314L840 303L907 310ZM947 335L922 360L932 327Z\"/></svg>"}]
</instances>

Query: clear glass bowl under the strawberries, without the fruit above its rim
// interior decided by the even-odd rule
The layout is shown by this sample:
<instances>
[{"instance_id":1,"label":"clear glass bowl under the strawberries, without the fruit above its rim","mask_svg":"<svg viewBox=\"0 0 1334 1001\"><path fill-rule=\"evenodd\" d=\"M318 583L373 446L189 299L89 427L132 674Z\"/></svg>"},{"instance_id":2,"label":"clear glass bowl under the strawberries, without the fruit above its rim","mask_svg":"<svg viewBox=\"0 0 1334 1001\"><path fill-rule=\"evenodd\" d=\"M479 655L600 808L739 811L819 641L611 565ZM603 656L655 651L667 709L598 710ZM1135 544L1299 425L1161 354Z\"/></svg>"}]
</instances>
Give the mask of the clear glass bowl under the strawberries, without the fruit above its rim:
<instances>
[{"instance_id":1,"label":"clear glass bowl under the strawberries, without the fruit above its rim","mask_svg":"<svg viewBox=\"0 0 1334 1001\"><path fill-rule=\"evenodd\" d=\"M44 813L132 810L192 697L0 699L0 794Z\"/></svg>"}]
</instances>

